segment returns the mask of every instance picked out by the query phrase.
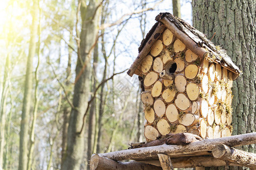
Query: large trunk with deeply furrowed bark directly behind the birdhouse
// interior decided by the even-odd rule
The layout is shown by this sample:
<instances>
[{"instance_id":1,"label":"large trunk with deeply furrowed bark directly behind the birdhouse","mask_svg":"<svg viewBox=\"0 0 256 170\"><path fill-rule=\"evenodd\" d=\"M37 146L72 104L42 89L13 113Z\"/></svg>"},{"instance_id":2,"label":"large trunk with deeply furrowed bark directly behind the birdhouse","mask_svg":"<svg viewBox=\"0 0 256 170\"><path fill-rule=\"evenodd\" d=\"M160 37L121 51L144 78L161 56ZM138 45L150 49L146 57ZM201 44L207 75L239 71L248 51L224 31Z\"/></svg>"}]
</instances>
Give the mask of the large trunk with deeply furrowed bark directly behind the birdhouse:
<instances>
[{"instance_id":1,"label":"large trunk with deeply furrowed bark directly behind the birdhouse","mask_svg":"<svg viewBox=\"0 0 256 170\"><path fill-rule=\"evenodd\" d=\"M256 2L192 1L193 25L222 46L243 71L233 83L233 135L255 131L255 54L256 54ZM256 146L242 146L242 150L255 152ZM233 168L231 168L233 169ZM241 167L238 169L242 169Z\"/></svg>"}]
</instances>

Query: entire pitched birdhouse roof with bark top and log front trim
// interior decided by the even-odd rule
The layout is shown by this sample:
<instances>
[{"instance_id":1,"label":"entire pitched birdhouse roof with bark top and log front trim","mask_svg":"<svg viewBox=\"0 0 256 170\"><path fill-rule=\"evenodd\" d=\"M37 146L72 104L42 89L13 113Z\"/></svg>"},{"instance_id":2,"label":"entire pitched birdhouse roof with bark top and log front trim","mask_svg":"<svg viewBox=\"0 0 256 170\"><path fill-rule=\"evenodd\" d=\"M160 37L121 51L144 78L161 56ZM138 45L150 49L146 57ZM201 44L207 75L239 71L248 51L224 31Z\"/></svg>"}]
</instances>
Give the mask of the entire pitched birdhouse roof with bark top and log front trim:
<instances>
[{"instance_id":1,"label":"entire pitched birdhouse roof with bark top and log front trim","mask_svg":"<svg viewBox=\"0 0 256 170\"><path fill-rule=\"evenodd\" d=\"M168 12L160 13L156 16L155 20L156 23L147 33L145 39L142 40L141 46L139 46L139 55L127 71L128 75L133 76L133 74L136 74L138 67L148 52L150 52L152 45L159 39L161 33L166 28L170 29L178 39L200 58L207 58L209 62L220 63L222 67L226 67L226 69L232 71L234 73L234 79L242 74L242 71L233 63L228 54L226 54L226 50L214 45L212 41L207 39L204 33L198 31L184 20L176 18Z\"/></svg>"}]
</instances>

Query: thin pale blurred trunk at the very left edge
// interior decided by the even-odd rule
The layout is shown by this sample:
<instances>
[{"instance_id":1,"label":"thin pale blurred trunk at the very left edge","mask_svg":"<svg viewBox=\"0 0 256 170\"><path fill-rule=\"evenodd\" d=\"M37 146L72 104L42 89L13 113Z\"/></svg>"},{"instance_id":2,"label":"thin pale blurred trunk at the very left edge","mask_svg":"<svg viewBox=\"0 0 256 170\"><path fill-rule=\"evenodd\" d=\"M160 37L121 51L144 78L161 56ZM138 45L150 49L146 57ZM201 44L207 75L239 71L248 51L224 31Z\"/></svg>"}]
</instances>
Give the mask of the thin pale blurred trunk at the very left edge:
<instances>
[{"instance_id":1,"label":"thin pale blurred trunk at the very left edge","mask_svg":"<svg viewBox=\"0 0 256 170\"><path fill-rule=\"evenodd\" d=\"M7 96L9 94L9 88L8 88L8 74L9 74L9 56L6 57L5 62L5 74L3 75L3 91L2 91L2 97L1 97L1 114L0 114L0 167L3 167L3 150L5 146L5 124L6 124L6 100Z\"/></svg>"}]
</instances>

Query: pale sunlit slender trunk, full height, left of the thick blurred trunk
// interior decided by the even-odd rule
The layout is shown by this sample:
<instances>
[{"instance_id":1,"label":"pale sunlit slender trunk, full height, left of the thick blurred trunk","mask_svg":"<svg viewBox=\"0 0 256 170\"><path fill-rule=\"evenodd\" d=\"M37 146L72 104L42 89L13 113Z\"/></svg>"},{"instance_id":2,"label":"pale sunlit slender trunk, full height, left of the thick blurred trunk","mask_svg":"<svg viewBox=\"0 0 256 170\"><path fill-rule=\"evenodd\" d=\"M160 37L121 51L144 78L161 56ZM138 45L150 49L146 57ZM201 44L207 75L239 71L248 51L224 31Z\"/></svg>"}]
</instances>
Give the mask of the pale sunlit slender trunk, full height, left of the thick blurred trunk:
<instances>
[{"instance_id":1,"label":"pale sunlit slender trunk, full height, left of the thick blurred trunk","mask_svg":"<svg viewBox=\"0 0 256 170\"><path fill-rule=\"evenodd\" d=\"M19 170L27 170L28 116L30 115L31 107L33 57L35 56L36 34L38 31L38 1L34 0L33 3L30 47L28 50L26 80L24 82L22 120L20 122Z\"/></svg>"}]
</instances>

